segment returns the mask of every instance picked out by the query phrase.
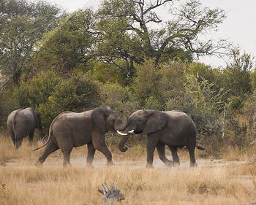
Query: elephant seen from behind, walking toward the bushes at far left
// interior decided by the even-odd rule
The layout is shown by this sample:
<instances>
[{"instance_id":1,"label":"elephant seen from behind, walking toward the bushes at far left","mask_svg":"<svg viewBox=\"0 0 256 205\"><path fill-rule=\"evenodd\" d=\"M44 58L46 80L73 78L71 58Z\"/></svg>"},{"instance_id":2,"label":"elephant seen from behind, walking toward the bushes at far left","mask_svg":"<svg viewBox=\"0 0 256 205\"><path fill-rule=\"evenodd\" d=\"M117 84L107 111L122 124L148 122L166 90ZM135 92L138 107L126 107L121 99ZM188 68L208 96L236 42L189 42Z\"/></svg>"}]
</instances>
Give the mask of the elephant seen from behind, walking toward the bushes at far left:
<instances>
[{"instance_id":1,"label":"elephant seen from behind, walking toward the bushes at far left","mask_svg":"<svg viewBox=\"0 0 256 205\"><path fill-rule=\"evenodd\" d=\"M31 107L12 111L7 119L7 128L16 149L20 147L23 138L28 135L29 144L31 145L35 128L39 130L39 134L42 136L40 114L34 109L31 109Z\"/></svg>"}]
</instances>

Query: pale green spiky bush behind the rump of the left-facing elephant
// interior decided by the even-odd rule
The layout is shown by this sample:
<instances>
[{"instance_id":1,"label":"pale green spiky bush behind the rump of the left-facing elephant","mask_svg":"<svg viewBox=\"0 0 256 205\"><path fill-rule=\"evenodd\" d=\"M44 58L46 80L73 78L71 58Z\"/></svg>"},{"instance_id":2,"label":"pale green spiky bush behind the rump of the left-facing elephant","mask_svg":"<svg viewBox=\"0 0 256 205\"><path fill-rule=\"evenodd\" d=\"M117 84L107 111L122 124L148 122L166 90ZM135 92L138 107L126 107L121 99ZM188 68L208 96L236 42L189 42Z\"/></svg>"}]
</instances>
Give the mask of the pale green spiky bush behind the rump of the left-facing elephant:
<instances>
[{"instance_id":1,"label":"pale green spiky bush behind the rump of the left-facing elephant","mask_svg":"<svg viewBox=\"0 0 256 205\"><path fill-rule=\"evenodd\" d=\"M192 117L200 135L218 134L221 128L219 113L224 109L222 90L216 92L214 84L198 80L198 76L186 74L184 90L175 98L170 98L167 110L180 109Z\"/></svg>"}]
</instances>

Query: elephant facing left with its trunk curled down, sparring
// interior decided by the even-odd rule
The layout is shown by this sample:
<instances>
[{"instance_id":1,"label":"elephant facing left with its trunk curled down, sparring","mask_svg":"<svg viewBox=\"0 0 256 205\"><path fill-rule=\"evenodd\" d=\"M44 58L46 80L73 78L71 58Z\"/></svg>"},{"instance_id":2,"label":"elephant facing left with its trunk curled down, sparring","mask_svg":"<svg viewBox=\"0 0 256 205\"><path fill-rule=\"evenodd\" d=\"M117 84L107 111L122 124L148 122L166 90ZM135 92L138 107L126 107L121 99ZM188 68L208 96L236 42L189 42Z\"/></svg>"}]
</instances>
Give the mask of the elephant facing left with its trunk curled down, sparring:
<instances>
[{"instance_id":1,"label":"elephant facing left with its trunk curled down, sparring","mask_svg":"<svg viewBox=\"0 0 256 205\"><path fill-rule=\"evenodd\" d=\"M177 148L186 146L190 155L190 166L195 166L196 127L193 120L184 112L179 110L159 112L156 110L138 110L129 117L127 128L119 143L119 150L126 152L124 144L129 139L129 131L135 134L147 134L147 165L153 167L154 150L165 165L179 164ZM173 162L165 157L165 144L170 148Z\"/></svg>"}]
</instances>

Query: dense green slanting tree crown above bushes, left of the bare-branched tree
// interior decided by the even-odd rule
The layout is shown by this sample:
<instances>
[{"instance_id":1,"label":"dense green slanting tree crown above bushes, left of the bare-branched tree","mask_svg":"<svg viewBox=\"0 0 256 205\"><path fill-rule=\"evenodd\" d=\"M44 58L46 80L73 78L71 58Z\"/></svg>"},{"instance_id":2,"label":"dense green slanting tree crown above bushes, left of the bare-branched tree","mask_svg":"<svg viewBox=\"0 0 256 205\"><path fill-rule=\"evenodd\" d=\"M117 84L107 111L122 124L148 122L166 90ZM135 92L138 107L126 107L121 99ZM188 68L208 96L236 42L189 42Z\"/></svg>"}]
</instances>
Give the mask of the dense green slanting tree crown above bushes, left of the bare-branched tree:
<instances>
[{"instance_id":1,"label":"dense green slanting tree crown above bushes, left of the bare-branched tree","mask_svg":"<svg viewBox=\"0 0 256 205\"><path fill-rule=\"evenodd\" d=\"M94 34L93 24L94 13L90 9L74 12L59 29L45 34L29 67L40 70L43 66L63 75L75 68L86 69L94 57L97 34Z\"/></svg>"}]
</instances>

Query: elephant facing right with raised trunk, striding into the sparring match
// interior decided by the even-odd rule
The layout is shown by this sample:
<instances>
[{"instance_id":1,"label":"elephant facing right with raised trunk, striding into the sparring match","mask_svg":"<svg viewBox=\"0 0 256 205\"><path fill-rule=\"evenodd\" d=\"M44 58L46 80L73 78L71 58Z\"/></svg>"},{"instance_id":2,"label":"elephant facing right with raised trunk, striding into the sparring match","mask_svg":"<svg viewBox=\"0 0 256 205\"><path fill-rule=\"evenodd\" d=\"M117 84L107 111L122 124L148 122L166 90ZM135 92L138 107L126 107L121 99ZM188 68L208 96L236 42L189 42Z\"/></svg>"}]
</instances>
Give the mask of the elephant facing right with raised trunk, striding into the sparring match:
<instances>
[{"instance_id":1,"label":"elephant facing right with raised trunk, striding into the sparring match","mask_svg":"<svg viewBox=\"0 0 256 205\"><path fill-rule=\"evenodd\" d=\"M64 155L63 166L70 165L69 155L73 147L84 144L88 146L87 166L91 166L95 150L105 155L108 160L107 165L110 166L113 164L112 155L105 143L105 133L124 130L127 123L127 116L124 115L123 122L117 112L111 109L96 108L80 113L62 112L50 125L48 142L42 146L46 147L38 158L36 166L41 165L51 152L59 149Z\"/></svg>"}]
</instances>

